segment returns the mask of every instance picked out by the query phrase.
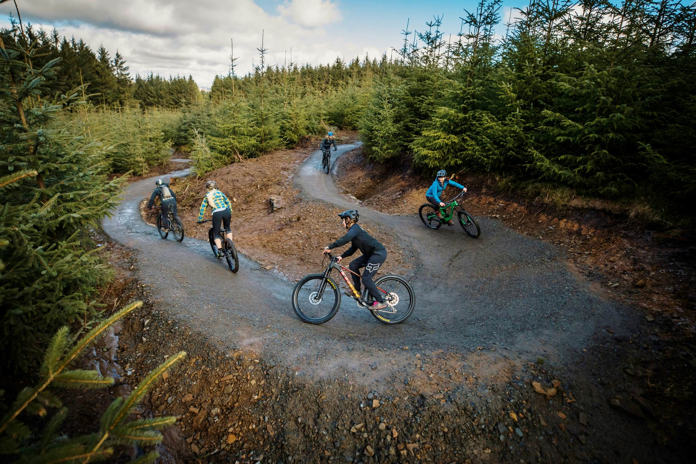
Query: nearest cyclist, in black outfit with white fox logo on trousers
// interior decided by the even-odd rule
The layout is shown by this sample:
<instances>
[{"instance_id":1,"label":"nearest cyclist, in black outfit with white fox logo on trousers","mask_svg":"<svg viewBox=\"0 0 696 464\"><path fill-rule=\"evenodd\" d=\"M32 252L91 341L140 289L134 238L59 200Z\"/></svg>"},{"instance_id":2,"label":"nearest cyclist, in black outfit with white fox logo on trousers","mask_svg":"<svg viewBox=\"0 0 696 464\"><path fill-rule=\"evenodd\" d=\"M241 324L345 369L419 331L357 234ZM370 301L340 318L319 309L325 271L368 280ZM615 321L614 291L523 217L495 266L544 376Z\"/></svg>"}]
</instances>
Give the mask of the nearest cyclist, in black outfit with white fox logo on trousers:
<instances>
[{"instance_id":1,"label":"nearest cyclist, in black outfit with white fox logo on trousers","mask_svg":"<svg viewBox=\"0 0 696 464\"><path fill-rule=\"evenodd\" d=\"M346 243L351 242L351 247L338 257L338 261L340 261L345 257L353 255L357 250L361 250L363 255L353 259L348 265L348 269L358 273L361 268L365 268L365 272L363 272L363 284L365 284L365 288L370 291L372 298L375 300L370 309L381 310L386 307L386 304L381 297L381 291L377 289L377 285L374 284L372 278L377 273L377 269L379 269L387 259L387 249L384 248L379 241L375 240L372 235L365 232L363 227L358 225L360 214L358 214L356 209L343 211L338 217L343 219L341 225L348 229L348 233L324 248L324 253L329 253L333 248L338 248L339 246L344 246ZM360 276L351 274L351 277L353 278L353 285L355 285L356 290L360 293ZM347 292L346 294L351 297L353 296Z\"/></svg>"}]
</instances>

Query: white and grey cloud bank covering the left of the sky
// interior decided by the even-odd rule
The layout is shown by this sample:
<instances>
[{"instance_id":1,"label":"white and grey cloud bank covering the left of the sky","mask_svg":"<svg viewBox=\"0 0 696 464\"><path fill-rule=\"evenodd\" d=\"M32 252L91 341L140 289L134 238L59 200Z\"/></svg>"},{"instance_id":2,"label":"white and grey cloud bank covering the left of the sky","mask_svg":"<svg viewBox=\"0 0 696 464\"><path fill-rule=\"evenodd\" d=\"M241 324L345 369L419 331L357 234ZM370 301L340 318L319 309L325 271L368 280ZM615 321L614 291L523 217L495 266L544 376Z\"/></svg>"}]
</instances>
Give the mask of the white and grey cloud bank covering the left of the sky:
<instances>
[{"instance_id":1,"label":"white and grey cloud bank covering the left of the sky","mask_svg":"<svg viewBox=\"0 0 696 464\"><path fill-rule=\"evenodd\" d=\"M2 13L10 12L7 5ZM93 49L103 44L111 56L118 49L132 75L191 74L200 86L227 74L230 38L239 74L258 64L262 31L269 65L282 65L291 47L294 61L317 65L349 59L367 45L327 33L326 25L341 19L331 0L290 0L269 12L253 0L30 0L20 11L25 23L47 31L56 26Z\"/></svg>"}]
</instances>

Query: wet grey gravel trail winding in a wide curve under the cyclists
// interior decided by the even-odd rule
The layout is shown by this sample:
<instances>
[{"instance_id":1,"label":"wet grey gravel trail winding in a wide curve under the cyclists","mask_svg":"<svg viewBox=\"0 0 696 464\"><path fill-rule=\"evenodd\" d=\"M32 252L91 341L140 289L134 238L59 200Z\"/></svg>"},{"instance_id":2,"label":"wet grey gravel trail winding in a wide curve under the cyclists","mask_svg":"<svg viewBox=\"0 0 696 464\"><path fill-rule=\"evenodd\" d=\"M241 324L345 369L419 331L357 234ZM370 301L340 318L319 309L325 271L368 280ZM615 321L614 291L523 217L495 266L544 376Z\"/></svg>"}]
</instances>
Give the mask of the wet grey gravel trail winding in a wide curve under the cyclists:
<instances>
[{"instance_id":1,"label":"wet grey gravel trail winding in a wide curve under the cyclists","mask_svg":"<svg viewBox=\"0 0 696 464\"><path fill-rule=\"evenodd\" d=\"M356 146L341 145L332 152L333 160ZM402 247L418 257L413 274L406 275L417 298L406 323L383 326L347 298L329 323L302 323L290 303L293 284L278 274L243 255L239 273L232 274L212 257L205 241L162 240L139 212L139 203L154 188L152 179L129 185L113 217L104 221L104 230L139 253L138 277L172 319L200 330L223 349L253 349L267 362L285 362L316 376L335 367L361 369L372 360L398 358L404 345L454 351L495 346L506 358L543 355L563 362L603 328L623 325L622 308L594 294L554 246L489 218L477 218L482 235L470 239L457 225L427 229L416 211L396 216L360 207L338 192L331 175L319 170L321 156L317 150L294 177L303 195L356 207L372 223L398 231ZM173 337L186 335L173 324ZM374 375L387 376L389 369Z\"/></svg>"}]
</instances>

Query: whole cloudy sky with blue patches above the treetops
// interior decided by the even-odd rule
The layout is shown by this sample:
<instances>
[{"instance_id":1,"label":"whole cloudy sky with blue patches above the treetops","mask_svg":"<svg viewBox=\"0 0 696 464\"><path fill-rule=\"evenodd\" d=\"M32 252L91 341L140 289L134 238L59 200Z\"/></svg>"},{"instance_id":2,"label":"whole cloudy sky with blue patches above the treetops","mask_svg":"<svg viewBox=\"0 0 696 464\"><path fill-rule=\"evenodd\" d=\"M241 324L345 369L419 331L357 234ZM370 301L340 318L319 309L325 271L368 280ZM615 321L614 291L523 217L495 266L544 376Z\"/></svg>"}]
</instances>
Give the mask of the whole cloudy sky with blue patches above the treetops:
<instances>
[{"instance_id":1,"label":"whole cloudy sky with blue patches above the treetops","mask_svg":"<svg viewBox=\"0 0 696 464\"><path fill-rule=\"evenodd\" d=\"M331 63L368 54L380 57L400 47L402 29L426 29L433 15L443 16L445 39L459 32L464 9L475 0L17 0L22 21L61 35L82 38L111 56L120 51L136 74L193 76L207 88L216 74L228 73L230 39L235 68L244 74L258 64L262 33L267 63ZM525 0L503 0L505 20ZM0 5L5 18L16 17L13 2ZM514 15L514 13L513 13ZM9 20L4 19L9 25ZM498 25L498 33L505 26ZM413 35L411 35L413 37Z\"/></svg>"}]
</instances>

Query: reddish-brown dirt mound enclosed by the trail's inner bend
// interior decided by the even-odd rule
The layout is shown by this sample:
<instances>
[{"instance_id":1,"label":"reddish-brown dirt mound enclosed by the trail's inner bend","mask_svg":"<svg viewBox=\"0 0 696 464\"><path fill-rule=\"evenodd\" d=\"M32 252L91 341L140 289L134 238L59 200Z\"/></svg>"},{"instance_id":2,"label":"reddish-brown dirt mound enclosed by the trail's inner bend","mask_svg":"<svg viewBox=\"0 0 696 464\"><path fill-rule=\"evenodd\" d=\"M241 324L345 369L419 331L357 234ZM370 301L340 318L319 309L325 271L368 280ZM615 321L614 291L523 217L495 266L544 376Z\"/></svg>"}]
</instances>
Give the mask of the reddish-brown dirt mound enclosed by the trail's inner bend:
<instances>
[{"instance_id":1,"label":"reddish-brown dirt mound enclosed by the trail's inner bend","mask_svg":"<svg viewBox=\"0 0 696 464\"><path fill-rule=\"evenodd\" d=\"M197 225L196 219L206 191L205 182L214 179L232 202L230 227L237 250L269 271L277 269L290 280L322 272L322 249L345 234L336 216L341 210L319 201L304 200L292 186L294 171L316 151L317 145L318 142L308 148L280 150L234 163L200 179L173 182L178 214L187 237L207 241L210 225ZM275 211L269 202L271 198ZM145 203L141 205L144 206ZM210 218L210 211L206 211L205 219ZM143 214L149 223L155 224L155 212L143 209ZM397 245L398 239L392 231L370 222L362 225L388 250L394 250L379 273L403 273L404 267L413 266L412 257ZM349 261L346 259L344 263Z\"/></svg>"}]
</instances>

